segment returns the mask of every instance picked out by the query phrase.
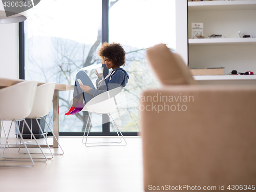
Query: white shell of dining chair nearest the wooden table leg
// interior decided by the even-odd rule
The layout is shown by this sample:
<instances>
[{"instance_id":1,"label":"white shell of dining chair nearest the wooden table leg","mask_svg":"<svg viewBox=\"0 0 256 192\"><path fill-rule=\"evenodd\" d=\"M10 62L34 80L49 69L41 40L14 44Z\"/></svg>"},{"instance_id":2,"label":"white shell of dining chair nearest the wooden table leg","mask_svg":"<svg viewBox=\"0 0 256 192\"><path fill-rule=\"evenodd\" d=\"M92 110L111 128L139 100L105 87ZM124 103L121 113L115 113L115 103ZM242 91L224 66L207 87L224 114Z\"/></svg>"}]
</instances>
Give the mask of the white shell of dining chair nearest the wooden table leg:
<instances>
[{"instance_id":1,"label":"white shell of dining chair nearest the wooden table leg","mask_svg":"<svg viewBox=\"0 0 256 192\"><path fill-rule=\"evenodd\" d=\"M43 117L51 111L55 86L55 82L50 82L37 87L33 108L27 118Z\"/></svg>"}]
</instances>

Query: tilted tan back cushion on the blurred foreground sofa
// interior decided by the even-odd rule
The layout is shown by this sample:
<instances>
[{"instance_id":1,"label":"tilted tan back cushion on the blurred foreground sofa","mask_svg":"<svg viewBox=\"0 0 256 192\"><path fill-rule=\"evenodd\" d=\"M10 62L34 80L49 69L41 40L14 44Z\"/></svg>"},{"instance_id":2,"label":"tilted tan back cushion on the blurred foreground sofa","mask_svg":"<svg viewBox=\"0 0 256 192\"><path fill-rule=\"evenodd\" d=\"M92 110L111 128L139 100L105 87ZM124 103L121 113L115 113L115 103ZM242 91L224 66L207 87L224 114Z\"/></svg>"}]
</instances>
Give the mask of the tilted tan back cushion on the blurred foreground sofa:
<instances>
[{"instance_id":1,"label":"tilted tan back cushion on the blurred foreground sofa","mask_svg":"<svg viewBox=\"0 0 256 192\"><path fill-rule=\"evenodd\" d=\"M161 84L197 84L180 55L164 44L148 49L146 55Z\"/></svg>"}]
</instances>

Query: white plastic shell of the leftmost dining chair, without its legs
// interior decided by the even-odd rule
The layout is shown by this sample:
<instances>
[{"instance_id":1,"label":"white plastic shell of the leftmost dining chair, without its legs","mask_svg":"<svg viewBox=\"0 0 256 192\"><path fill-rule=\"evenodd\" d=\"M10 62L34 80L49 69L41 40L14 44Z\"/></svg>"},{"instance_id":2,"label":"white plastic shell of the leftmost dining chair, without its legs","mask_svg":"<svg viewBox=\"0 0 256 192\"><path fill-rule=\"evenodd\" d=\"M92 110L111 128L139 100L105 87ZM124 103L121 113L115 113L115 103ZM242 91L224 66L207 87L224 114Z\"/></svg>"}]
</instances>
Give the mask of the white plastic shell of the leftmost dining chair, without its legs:
<instances>
[{"instance_id":1,"label":"white plastic shell of the leftmost dining chair, without its legs","mask_svg":"<svg viewBox=\"0 0 256 192\"><path fill-rule=\"evenodd\" d=\"M0 89L0 119L27 117L33 106L38 81L24 81Z\"/></svg>"}]
</instances>

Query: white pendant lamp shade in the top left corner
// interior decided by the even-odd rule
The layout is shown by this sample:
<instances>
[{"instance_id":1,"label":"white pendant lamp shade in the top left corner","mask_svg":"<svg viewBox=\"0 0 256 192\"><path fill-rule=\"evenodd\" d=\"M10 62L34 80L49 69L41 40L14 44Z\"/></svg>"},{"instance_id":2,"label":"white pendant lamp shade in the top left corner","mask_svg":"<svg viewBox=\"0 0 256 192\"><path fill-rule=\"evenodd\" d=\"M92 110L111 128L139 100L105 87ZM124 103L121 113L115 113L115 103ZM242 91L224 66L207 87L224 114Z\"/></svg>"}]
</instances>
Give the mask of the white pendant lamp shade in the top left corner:
<instances>
[{"instance_id":1,"label":"white pendant lamp shade in the top left corner","mask_svg":"<svg viewBox=\"0 0 256 192\"><path fill-rule=\"evenodd\" d=\"M27 11L7 17L3 3L0 0L0 24L19 23L19 22L24 22L24 20L26 19L27 19Z\"/></svg>"}]
</instances>

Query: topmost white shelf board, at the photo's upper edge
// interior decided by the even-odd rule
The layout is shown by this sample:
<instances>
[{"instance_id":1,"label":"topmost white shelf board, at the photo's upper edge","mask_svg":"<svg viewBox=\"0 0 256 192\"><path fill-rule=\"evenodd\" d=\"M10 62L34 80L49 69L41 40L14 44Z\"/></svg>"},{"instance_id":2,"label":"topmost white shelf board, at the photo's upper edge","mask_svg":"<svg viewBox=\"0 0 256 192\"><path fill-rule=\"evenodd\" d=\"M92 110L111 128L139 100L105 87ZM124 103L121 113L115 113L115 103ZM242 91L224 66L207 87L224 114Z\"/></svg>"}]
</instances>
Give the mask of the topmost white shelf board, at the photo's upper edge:
<instances>
[{"instance_id":1,"label":"topmost white shelf board, at the photo's upper edge","mask_svg":"<svg viewBox=\"0 0 256 192\"><path fill-rule=\"evenodd\" d=\"M188 2L188 11L256 10L256 1Z\"/></svg>"}]
</instances>

